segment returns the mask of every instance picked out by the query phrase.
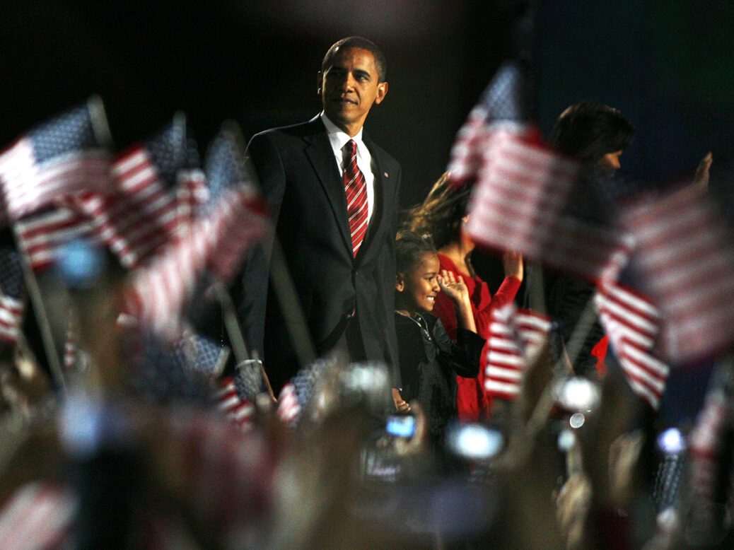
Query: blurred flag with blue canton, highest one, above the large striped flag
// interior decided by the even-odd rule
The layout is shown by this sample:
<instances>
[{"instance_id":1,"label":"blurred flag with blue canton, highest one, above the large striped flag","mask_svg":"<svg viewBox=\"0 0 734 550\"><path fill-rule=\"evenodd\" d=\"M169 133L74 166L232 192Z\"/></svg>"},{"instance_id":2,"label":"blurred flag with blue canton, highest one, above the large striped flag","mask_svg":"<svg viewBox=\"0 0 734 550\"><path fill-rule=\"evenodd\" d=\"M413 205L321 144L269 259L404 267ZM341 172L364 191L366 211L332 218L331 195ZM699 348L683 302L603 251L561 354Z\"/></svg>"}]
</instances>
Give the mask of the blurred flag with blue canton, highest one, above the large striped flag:
<instances>
[{"instance_id":1,"label":"blurred flag with blue canton, highest one, above the large striped flag","mask_svg":"<svg viewBox=\"0 0 734 550\"><path fill-rule=\"evenodd\" d=\"M499 136L527 136L528 78L518 62L502 65L479 104L459 129L448 163L451 181L473 183L491 164L492 144Z\"/></svg>"}]
</instances>

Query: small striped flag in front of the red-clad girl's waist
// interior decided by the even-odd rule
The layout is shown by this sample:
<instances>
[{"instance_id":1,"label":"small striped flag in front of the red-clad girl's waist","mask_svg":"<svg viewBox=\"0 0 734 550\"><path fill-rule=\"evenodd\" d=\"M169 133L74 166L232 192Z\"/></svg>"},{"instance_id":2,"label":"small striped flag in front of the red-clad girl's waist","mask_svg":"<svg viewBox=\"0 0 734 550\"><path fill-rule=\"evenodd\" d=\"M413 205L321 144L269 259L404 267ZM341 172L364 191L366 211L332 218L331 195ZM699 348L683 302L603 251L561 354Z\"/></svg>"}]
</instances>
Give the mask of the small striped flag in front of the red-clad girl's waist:
<instances>
[{"instance_id":1,"label":"small striped flag in front of the red-clad girl's waist","mask_svg":"<svg viewBox=\"0 0 734 550\"><path fill-rule=\"evenodd\" d=\"M520 394L528 358L548 338L551 320L515 304L494 309L492 318L484 389L494 397L513 400Z\"/></svg>"}]
</instances>

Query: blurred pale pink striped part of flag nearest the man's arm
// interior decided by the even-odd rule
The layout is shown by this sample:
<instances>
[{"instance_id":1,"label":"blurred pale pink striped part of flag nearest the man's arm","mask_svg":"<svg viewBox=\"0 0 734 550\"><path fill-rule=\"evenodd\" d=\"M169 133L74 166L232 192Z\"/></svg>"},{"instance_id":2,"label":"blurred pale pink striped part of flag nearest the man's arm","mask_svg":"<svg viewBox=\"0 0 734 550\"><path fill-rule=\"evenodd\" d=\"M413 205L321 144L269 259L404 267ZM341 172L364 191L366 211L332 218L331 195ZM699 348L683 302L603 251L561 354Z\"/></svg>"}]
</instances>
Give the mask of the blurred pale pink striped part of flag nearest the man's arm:
<instances>
[{"instance_id":1,"label":"blurred pale pink striped part of flag nearest the man's arm","mask_svg":"<svg viewBox=\"0 0 734 550\"><path fill-rule=\"evenodd\" d=\"M230 189L209 216L195 221L190 235L134 274L129 311L148 329L175 337L200 277L208 272L227 281L266 227L264 202L254 188L243 182Z\"/></svg>"}]
</instances>

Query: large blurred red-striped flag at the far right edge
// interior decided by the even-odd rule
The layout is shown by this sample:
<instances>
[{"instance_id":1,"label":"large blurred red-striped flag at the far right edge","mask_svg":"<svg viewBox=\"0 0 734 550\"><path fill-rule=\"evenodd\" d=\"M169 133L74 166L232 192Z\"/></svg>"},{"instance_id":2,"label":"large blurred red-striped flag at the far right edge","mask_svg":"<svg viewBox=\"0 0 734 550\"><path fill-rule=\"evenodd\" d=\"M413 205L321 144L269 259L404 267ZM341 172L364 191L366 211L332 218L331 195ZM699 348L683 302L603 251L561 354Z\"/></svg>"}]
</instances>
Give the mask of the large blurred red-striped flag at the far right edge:
<instances>
[{"instance_id":1,"label":"large blurred red-striped flag at the far right edge","mask_svg":"<svg viewBox=\"0 0 734 550\"><path fill-rule=\"evenodd\" d=\"M622 221L635 238L633 264L660 304L660 348L683 363L734 342L734 249L705 191L688 186L628 204Z\"/></svg>"}]
</instances>

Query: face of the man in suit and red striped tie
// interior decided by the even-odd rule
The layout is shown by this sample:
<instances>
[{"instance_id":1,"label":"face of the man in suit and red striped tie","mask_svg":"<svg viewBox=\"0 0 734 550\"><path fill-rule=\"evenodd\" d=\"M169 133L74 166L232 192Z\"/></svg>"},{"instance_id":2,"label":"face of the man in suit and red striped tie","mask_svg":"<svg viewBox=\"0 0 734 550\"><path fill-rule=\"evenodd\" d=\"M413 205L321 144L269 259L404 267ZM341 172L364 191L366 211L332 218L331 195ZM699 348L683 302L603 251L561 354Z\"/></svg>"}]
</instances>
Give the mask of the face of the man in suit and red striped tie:
<instances>
[{"instance_id":1,"label":"face of the man in suit and red striped tie","mask_svg":"<svg viewBox=\"0 0 734 550\"><path fill-rule=\"evenodd\" d=\"M379 82L374 56L362 48L341 48L326 72L319 73L319 89L329 120L354 136L373 103L382 103L388 83Z\"/></svg>"}]
</instances>

